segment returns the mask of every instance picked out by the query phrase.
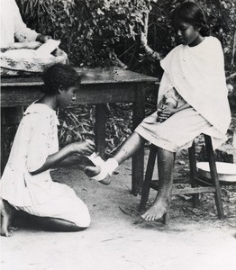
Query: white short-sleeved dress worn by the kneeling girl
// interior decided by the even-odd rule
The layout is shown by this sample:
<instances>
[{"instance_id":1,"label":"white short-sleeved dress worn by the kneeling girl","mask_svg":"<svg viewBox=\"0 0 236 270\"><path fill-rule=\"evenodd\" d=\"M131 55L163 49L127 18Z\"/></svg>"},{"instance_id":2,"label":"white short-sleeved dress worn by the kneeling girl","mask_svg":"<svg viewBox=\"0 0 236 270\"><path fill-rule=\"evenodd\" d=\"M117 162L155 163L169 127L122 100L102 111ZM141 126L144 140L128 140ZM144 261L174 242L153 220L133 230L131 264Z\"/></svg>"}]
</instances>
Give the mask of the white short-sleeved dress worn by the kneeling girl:
<instances>
[{"instance_id":1,"label":"white short-sleeved dress worn by the kneeling girl","mask_svg":"<svg viewBox=\"0 0 236 270\"><path fill-rule=\"evenodd\" d=\"M45 104L32 103L23 114L1 179L1 197L17 210L59 218L87 227L86 204L66 184L53 182L50 170L31 175L59 150L58 118Z\"/></svg>"}]
</instances>

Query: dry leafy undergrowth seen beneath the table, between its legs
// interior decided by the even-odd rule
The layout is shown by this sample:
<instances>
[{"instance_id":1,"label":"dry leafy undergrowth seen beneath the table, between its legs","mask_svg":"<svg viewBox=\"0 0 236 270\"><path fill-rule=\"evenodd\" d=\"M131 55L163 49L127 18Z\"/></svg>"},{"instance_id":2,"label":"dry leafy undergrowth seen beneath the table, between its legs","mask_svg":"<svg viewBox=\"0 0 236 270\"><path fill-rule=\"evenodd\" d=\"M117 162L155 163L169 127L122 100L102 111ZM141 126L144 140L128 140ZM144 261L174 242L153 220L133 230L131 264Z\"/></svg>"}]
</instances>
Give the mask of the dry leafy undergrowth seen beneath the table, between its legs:
<instances>
[{"instance_id":1,"label":"dry leafy undergrowth seen beneath the table, between its legs","mask_svg":"<svg viewBox=\"0 0 236 270\"><path fill-rule=\"evenodd\" d=\"M105 148L106 154L111 155L131 135L131 104L110 104L107 106L107 114ZM60 110L59 121L59 142L61 147L73 141L95 139L95 108L93 105L78 105Z\"/></svg>"}]
</instances>

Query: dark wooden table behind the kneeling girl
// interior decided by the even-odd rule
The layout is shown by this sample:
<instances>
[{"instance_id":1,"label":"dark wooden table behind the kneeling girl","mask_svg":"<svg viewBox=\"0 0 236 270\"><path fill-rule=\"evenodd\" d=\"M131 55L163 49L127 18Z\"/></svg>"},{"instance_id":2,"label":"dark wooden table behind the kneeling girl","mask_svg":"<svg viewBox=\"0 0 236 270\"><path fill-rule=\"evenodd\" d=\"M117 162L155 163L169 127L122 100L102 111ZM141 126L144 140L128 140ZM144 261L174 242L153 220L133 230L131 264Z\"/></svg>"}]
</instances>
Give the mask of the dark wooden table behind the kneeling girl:
<instances>
[{"instance_id":1,"label":"dark wooden table behind the kneeling girl","mask_svg":"<svg viewBox=\"0 0 236 270\"><path fill-rule=\"evenodd\" d=\"M104 103L133 103L133 129L145 116L145 88L148 84L157 83L158 79L151 76L125 70L119 67L109 68L76 68L79 74L84 74L81 88L77 96L77 104L95 104L95 143L97 151L104 157L105 143L105 105ZM16 117L9 115L10 107L27 106L41 96L40 77L2 78L1 118ZM8 115L7 115L8 114ZM132 157L132 193L141 192L143 181L144 148Z\"/></svg>"}]
</instances>

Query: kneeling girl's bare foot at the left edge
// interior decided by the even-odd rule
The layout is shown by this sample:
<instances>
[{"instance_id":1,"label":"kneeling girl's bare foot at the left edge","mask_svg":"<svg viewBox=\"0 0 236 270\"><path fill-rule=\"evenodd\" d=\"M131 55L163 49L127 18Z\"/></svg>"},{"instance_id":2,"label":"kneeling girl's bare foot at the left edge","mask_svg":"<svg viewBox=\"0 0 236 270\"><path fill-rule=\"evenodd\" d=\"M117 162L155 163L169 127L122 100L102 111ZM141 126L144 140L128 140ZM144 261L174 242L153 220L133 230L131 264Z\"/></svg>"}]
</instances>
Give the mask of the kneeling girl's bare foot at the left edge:
<instances>
[{"instance_id":1,"label":"kneeling girl's bare foot at the left edge","mask_svg":"<svg viewBox=\"0 0 236 270\"><path fill-rule=\"evenodd\" d=\"M11 223L14 219L14 207L7 201L1 199L1 235L10 237L13 235L13 227Z\"/></svg>"}]
</instances>

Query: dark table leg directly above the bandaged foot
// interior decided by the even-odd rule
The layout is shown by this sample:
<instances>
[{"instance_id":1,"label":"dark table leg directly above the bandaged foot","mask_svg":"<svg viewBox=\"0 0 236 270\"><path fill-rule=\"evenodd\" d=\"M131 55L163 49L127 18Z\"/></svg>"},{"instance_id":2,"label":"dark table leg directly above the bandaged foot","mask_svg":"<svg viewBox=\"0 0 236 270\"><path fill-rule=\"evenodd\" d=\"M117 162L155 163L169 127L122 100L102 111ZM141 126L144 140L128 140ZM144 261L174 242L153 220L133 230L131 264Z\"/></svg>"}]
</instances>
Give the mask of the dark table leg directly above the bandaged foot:
<instances>
[{"instance_id":1,"label":"dark table leg directly above the bandaged foot","mask_svg":"<svg viewBox=\"0 0 236 270\"><path fill-rule=\"evenodd\" d=\"M95 104L95 150L102 158L105 157L105 122L105 104Z\"/></svg>"}]
</instances>

